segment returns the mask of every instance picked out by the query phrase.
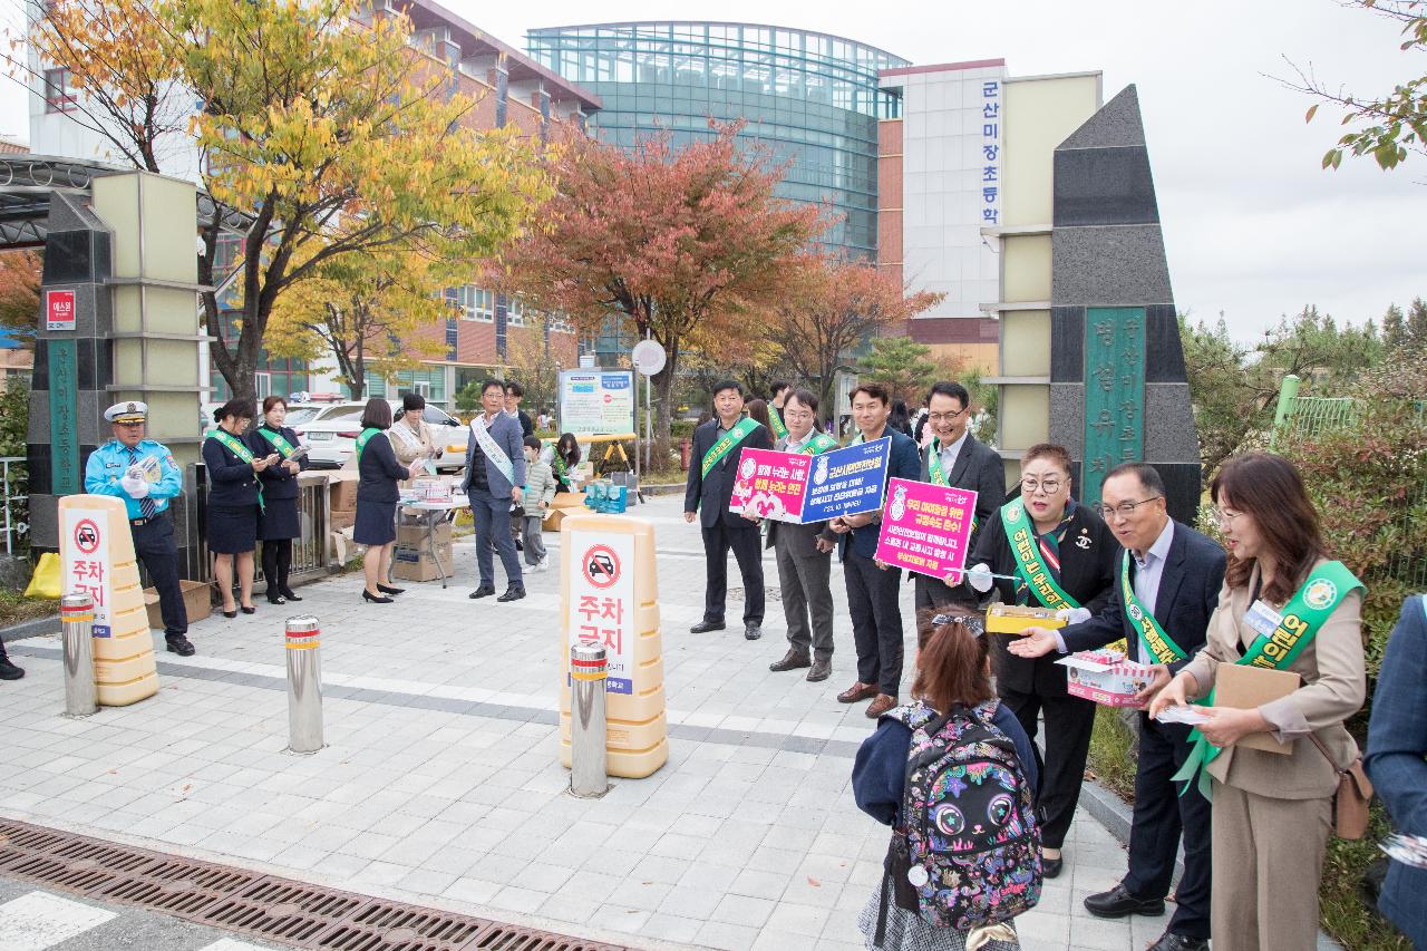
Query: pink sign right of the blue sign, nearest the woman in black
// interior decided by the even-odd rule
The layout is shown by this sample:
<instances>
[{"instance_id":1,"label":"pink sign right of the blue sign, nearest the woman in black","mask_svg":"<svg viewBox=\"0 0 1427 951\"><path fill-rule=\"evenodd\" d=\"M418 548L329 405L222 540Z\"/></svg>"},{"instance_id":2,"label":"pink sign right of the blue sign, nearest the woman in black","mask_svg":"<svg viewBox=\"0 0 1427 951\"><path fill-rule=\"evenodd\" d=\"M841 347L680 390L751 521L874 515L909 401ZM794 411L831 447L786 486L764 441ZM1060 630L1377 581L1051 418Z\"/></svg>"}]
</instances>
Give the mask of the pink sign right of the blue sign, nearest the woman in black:
<instances>
[{"instance_id":1,"label":"pink sign right of the blue sign, nearest the woman in black","mask_svg":"<svg viewBox=\"0 0 1427 951\"><path fill-rule=\"evenodd\" d=\"M933 578L962 571L975 515L976 493L968 488L892 478L882 510L878 560Z\"/></svg>"}]
</instances>

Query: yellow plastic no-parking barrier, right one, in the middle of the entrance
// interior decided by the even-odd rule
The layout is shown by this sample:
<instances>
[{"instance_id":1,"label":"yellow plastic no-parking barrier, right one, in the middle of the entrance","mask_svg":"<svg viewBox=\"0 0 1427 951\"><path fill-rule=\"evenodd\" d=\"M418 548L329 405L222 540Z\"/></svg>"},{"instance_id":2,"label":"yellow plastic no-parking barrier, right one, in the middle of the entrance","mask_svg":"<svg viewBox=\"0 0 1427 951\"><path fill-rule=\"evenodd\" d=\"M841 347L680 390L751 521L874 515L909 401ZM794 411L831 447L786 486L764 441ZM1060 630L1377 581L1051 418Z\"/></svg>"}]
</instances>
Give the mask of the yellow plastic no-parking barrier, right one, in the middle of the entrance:
<instances>
[{"instance_id":1,"label":"yellow plastic no-parking barrier, right one, in the middle of the entrance","mask_svg":"<svg viewBox=\"0 0 1427 951\"><path fill-rule=\"evenodd\" d=\"M669 758L654 525L629 515L567 515L559 545L559 761L571 764L569 648L598 643L608 664L609 775L644 778Z\"/></svg>"}]
</instances>

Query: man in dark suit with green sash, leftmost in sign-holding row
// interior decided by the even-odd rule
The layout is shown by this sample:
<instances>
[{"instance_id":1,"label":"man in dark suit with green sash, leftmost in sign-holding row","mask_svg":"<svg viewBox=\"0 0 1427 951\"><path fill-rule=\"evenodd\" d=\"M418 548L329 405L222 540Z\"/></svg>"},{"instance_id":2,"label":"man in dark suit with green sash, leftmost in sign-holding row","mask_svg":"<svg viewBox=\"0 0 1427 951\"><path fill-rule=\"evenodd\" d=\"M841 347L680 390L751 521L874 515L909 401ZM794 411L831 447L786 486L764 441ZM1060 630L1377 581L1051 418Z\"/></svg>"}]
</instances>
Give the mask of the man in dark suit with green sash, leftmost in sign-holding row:
<instances>
[{"instance_id":1,"label":"man in dark suit with green sash, leftmost in sign-holding row","mask_svg":"<svg viewBox=\"0 0 1427 951\"><path fill-rule=\"evenodd\" d=\"M694 634L723 630L723 597L728 594L728 550L738 558L743 575L743 637L763 635L763 561L758 523L728 510L738 478L738 457L743 448L773 448L773 437L759 423L743 417L743 388L723 380L714 386L714 418L694 430L689 481L684 490L684 520L699 520L708 581L704 620Z\"/></svg>"}]
</instances>

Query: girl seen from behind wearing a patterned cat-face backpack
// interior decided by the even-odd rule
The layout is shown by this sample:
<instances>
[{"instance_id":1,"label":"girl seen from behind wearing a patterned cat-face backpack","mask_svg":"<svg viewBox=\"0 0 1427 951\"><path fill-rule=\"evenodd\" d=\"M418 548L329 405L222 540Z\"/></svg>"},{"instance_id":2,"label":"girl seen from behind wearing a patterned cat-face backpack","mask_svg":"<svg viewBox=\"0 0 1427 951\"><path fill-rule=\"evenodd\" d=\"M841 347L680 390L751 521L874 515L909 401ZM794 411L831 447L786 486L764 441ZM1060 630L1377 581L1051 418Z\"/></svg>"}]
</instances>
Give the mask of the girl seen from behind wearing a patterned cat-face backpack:
<instances>
[{"instance_id":1,"label":"girl seen from behind wearing a patterned cat-face backpack","mask_svg":"<svg viewBox=\"0 0 1427 951\"><path fill-rule=\"evenodd\" d=\"M985 773L980 774L983 780L979 783L972 780L970 784L955 792L956 805L948 810L960 812L959 821L963 825L972 825L977 832L982 827L975 825L975 820L968 820L965 812L975 810L979 814L989 814L997 805L996 798L1000 792L1020 787L1025 801L1012 802L1009 811L1002 810L996 815L1003 822L1007 820L1020 822L1026 835L1025 847L1035 850L1033 798L1040 783L1040 770L1030 738L1006 705L997 703L996 693L992 690L987 634L982 618L953 610L948 614L926 613L920 621L919 627L925 627L932 634L916 658L916 678L912 681L913 701L880 717L876 733L862 741L852 765L852 794L858 808L883 825L892 827L892 841L888 844L888 858L883 862L886 878L878 880L876 891L858 918L858 928L862 931L868 948L880 948L882 951L965 951L969 944L985 951L1010 951L1019 948L1020 944L1009 920L969 931L938 927L919 914L916 895L908 894L910 891L909 881L915 882L913 877L916 871L920 871L919 867L909 868L906 861L906 827L915 821L915 817L902 814L902 805L906 801L908 758L913 741L918 740L913 730L920 731L922 741L930 734L955 745L952 734L966 734L953 721L966 723L975 718L980 724L989 725L987 740L1000 750L983 761ZM973 724L972 728L975 728ZM1007 740L1010 748L1003 745ZM936 805L936 814L940 815L943 808L946 807ZM939 824L940 821L938 820ZM973 835L975 832L968 831L966 834ZM1033 854L1015 851L1015 848L1013 845L1003 854L1007 867L1035 861ZM970 875L973 870L979 868L980 862L968 862L965 874ZM925 878L923 882L926 882L925 888L933 890L938 884L949 884L930 882ZM1035 884L1039 887L1039 881ZM1005 880L980 882L959 877L952 888L985 888L986 885L996 890L1005 887ZM1029 882L1023 882L1022 887L1026 888L1025 892L1016 890L1010 894L999 894L997 898L1012 904L1035 904L1035 897L1029 894ZM1016 911L1023 910L1016 908ZM997 915L990 912L990 917ZM982 934L973 937L976 931Z\"/></svg>"}]
</instances>

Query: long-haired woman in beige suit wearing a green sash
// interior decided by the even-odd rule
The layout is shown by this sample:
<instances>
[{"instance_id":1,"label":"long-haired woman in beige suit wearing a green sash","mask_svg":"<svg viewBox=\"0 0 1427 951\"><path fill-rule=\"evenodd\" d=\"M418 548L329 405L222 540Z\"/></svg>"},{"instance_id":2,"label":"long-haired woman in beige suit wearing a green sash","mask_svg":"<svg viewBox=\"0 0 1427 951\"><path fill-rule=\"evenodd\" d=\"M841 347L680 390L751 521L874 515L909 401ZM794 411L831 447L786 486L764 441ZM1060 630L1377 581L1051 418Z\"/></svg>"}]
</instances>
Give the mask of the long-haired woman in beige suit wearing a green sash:
<instances>
[{"instance_id":1,"label":"long-haired woman in beige suit wearing a green sash","mask_svg":"<svg viewBox=\"0 0 1427 951\"><path fill-rule=\"evenodd\" d=\"M1194 775L1184 778L1212 777L1214 951L1300 951L1317 941L1337 770L1359 755L1343 724L1367 694L1363 585L1327 560L1319 514L1287 460L1233 458L1210 491L1229 548L1224 588L1204 647L1150 715L1209 697L1186 764ZM1213 705L1223 664L1293 671L1301 684L1256 708ZM1236 747L1254 734L1287 753Z\"/></svg>"}]
</instances>

